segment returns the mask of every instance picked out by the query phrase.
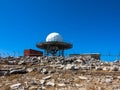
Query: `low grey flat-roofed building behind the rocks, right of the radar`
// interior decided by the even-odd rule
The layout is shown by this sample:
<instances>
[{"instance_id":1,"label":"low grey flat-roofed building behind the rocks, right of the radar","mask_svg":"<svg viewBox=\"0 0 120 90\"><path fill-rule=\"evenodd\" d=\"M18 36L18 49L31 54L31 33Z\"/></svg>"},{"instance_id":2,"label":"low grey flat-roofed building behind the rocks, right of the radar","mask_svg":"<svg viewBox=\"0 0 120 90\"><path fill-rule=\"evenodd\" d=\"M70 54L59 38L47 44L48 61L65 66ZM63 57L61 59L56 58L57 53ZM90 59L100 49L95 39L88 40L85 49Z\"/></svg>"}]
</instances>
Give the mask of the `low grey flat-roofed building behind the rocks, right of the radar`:
<instances>
[{"instance_id":1,"label":"low grey flat-roofed building behind the rocks, right of the radar","mask_svg":"<svg viewBox=\"0 0 120 90\"><path fill-rule=\"evenodd\" d=\"M91 58L95 58L97 60L100 60L100 53L86 53L86 54L70 54L70 57L74 56L82 56L82 57L87 57L90 56Z\"/></svg>"}]
</instances>

